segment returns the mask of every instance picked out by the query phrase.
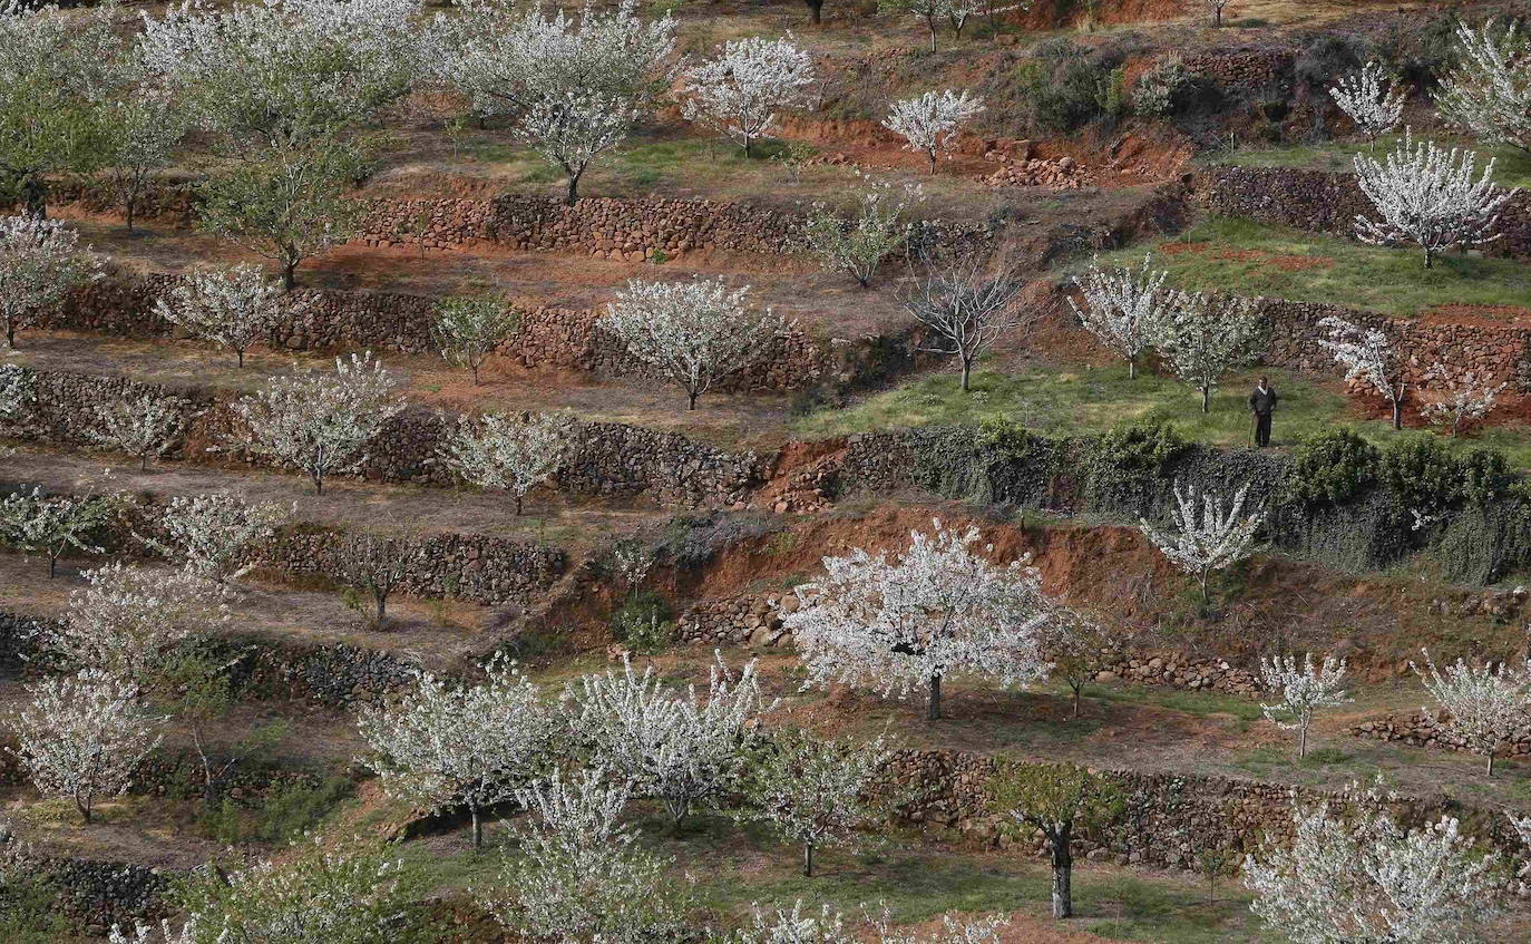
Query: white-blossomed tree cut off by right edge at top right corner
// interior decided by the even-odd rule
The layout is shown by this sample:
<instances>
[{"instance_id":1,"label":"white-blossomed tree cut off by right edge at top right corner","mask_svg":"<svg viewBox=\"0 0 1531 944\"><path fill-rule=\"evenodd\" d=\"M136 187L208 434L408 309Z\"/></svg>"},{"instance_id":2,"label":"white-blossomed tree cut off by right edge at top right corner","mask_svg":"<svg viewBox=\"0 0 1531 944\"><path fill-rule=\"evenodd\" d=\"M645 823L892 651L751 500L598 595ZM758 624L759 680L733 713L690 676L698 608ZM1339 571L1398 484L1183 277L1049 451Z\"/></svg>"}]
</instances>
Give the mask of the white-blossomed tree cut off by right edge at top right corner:
<instances>
[{"instance_id":1,"label":"white-blossomed tree cut off by right edge at top right corner","mask_svg":"<svg viewBox=\"0 0 1531 944\"><path fill-rule=\"evenodd\" d=\"M1484 144L1531 150L1531 37L1514 20L1456 26L1454 66L1441 77L1436 107Z\"/></svg>"}]
</instances>

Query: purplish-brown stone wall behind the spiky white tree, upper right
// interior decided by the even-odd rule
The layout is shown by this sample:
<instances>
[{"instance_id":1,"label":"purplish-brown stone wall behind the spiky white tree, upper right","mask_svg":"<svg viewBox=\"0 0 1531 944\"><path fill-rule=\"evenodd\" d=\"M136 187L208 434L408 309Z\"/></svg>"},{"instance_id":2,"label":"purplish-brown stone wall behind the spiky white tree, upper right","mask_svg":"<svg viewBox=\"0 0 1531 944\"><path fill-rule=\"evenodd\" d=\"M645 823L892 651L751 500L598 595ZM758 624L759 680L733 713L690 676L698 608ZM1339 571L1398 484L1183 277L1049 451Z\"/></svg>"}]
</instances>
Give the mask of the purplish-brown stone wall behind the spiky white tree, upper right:
<instances>
[{"instance_id":1,"label":"purplish-brown stone wall behind the spiky white tree, upper right","mask_svg":"<svg viewBox=\"0 0 1531 944\"><path fill-rule=\"evenodd\" d=\"M1295 167L1206 167L1196 175L1194 199L1220 216L1246 216L1298 230L1352 238L1355 218L1376 216L1355 175ZM1499 218L1502 238L1488 256L1531 256L1531 193L1520 192ZM1407 251L1407 250L1404 250ZM1424 262L1421 261L1421 265Z\"/></svg>"}]
</instances>

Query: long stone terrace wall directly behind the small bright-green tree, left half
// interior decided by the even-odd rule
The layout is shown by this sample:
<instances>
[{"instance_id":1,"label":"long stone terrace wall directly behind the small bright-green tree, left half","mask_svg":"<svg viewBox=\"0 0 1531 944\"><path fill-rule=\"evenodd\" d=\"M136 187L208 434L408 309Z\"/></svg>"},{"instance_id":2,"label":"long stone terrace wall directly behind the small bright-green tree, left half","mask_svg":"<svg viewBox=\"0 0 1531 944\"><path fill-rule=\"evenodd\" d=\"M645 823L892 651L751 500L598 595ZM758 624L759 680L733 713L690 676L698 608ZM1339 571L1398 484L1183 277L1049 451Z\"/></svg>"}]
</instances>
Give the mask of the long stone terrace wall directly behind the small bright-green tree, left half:
<instances>
[{"instance_id":1,"label":"long stone terrace wall directly behind the small bright-green tree, left half","mask_svg":"<svg viewBox=\"0 0 1531 944\"><path fill-rule=\"evenodd\" d=\"M176 277L167 274L119 273L72 293L44 325L112 337L178 336L175 325L155 314L155 302L175 282ZM435 354L430 326L438 300L384 291L300 288L285 299L269 343L289 351L369 348ZM599 328L602 316L603 310L591 308L524 308L519 329L495 352L527 368L577 369L599 377L661 377ZM841 360L854 359L790 323L759 362L726 379L718 389L781 392L811 388L834 374Z\"/></svg>"}]
</instances>

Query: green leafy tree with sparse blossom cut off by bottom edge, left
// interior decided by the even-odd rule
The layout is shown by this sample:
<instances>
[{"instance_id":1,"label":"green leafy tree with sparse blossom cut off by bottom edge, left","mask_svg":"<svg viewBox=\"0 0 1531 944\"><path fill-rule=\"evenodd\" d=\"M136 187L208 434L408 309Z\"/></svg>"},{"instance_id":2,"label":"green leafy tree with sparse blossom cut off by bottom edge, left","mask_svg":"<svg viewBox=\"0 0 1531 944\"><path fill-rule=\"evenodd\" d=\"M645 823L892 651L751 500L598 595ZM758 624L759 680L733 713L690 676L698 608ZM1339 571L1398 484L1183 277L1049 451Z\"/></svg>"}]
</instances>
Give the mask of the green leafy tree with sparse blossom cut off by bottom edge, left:
<instances>
[{"instance_id":1,"label":"green leafy tree with sparse blossom cut off by bottom edge, left","mask_svg":"<svg viewBox=\"0 0 1531 944\"><path fill-rule=\"evenodd\" d=\"M175 944L427 944L418 869L375 840L312 837L230 872L199 869L178 896Z\"/></svg>"}]
</instances>

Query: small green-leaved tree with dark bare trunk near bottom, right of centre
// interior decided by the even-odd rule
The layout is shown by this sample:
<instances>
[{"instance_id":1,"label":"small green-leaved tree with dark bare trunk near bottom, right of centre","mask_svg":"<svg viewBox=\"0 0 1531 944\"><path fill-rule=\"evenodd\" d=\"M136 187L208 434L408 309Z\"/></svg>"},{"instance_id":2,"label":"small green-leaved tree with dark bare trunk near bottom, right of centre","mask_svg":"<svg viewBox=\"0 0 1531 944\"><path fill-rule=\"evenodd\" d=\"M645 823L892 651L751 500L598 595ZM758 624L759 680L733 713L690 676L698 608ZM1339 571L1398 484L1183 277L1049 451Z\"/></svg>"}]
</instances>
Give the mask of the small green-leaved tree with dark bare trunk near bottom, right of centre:
<instances>
[{"instance_id":1,"label":"small green-leaved tree with dark bare trunk near bottom, right of centre","mask_svg":"<svg viewBox=\"0 0 1531 944\"><path fill-rule=\"evenodd\" d=\"M1052 860L1053 918L1073 916L1073 832L1099 828L1122 809L1122 791L1075 763L1003 760L989 778L989 809L1015 838L1043 834Z\"/></svg>"}]
</instances>

